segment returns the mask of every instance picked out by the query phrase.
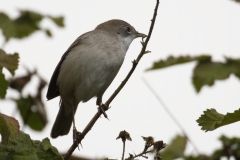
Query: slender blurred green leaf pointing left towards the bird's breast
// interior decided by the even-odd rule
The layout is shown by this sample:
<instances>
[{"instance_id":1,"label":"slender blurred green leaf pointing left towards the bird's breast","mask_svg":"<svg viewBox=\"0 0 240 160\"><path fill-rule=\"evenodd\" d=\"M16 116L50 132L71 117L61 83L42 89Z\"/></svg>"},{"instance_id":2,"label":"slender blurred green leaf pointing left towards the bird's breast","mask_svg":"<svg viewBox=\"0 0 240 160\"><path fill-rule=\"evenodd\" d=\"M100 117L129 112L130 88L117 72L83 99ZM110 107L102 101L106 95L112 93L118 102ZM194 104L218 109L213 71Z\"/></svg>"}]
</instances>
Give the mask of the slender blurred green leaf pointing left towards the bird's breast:
<instances>
[{"instance_id":1,"label":"slender blurred green leaf pointing left towards the bird's breast","mask_svg":"<svg viewBox=\"0 0 240 160\"><path fill-rule=\"evenodd\" d=\"M193 62L193 61L210 61L211 56L208 55L201 55L197 57L190 57L190 56L180 56L180 57L173 57L169 56L166 60L159 60L157 62L153 63L153 66L151 68L148 68L147 71L149 70L155 70L155 69L162 69L166 67L170 67L173 65L178 65L178 64L184 64L188 62Z\"/></svg>"}]
</instances>

